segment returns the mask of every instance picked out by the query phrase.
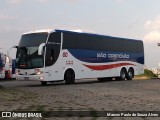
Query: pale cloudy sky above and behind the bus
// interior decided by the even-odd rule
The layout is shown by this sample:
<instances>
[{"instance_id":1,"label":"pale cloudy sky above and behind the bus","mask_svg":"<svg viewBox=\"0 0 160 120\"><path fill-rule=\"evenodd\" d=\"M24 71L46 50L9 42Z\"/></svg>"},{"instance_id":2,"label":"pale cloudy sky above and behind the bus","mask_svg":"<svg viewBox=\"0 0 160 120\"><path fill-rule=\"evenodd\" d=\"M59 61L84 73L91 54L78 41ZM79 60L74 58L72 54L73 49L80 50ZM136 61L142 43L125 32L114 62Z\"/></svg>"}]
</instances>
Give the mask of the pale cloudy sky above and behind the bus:
<instances>
[{"instance_id":1,"label":"pale cloudy sky above and behind the bus","mask_svg":"<svg viewBox=\"0 0 160 120\"><path fill-rule=\"evenodd\" d=\"M160 0L0 0L0 52L18 45L28 31L78 29L143 40L146 67L160 68L159 5Z\"/></svg>"}]
</instances>

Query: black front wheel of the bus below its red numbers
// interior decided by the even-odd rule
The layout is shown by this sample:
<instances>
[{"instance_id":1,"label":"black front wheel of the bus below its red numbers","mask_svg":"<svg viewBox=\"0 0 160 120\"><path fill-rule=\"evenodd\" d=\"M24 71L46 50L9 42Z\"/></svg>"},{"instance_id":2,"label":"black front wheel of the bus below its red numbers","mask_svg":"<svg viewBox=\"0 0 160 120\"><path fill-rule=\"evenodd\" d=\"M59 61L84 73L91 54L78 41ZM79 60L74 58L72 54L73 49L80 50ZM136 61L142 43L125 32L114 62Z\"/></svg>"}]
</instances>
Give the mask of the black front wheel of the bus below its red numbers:
<instances>
[{"instance_id":1,"label":"black front wheel of the bus below its red numbers","mask_svg":"<svg viewBox=\"0 0 160 120\"><path fill-rule=\"evenodd\" d=\"M75 74L73 70L67 70L64 75L64 80L66 84L75 83Z\"/></svg>"}]
</instances>

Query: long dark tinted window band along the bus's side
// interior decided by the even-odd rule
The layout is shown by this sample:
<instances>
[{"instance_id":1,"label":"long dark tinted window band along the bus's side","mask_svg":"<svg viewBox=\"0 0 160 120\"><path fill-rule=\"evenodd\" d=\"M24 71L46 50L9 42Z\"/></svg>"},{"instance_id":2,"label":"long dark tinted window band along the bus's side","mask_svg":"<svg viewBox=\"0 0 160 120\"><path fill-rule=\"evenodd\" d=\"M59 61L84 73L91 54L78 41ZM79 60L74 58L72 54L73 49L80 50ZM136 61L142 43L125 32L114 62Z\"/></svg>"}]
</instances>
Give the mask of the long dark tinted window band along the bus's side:
<instances>
[{"instance_id":1,"label":"long dark tinted window band along the bus's side","mask_svg":"<svg viewBox=\"0 0 160 120\"><path fill-rule=\"evenodd\" d=\"M143 52L143 42L109 36L66 32L64 33L63 49Z\"/></svg>"}]
</instances>

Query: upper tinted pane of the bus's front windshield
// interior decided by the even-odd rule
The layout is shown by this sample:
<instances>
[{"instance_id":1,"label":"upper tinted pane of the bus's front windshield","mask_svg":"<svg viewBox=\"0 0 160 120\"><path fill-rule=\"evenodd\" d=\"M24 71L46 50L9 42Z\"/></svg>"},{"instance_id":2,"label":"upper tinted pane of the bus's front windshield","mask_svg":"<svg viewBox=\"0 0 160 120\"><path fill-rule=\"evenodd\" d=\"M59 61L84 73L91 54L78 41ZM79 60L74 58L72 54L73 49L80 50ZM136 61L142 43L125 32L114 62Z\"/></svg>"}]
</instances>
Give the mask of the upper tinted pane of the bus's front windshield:
<instances>
[{"instance_id":1,"label":"upper tinted pane of the bus's front windshield","mask_svg":"<svg viewBox=\"0 0 160 120\"><path fill-rule=\"evenodd\" d=\"M41 43L46 43L48 33L32 33L22 35L19 47L39 46Z\"/></svg>"}]
</instances>

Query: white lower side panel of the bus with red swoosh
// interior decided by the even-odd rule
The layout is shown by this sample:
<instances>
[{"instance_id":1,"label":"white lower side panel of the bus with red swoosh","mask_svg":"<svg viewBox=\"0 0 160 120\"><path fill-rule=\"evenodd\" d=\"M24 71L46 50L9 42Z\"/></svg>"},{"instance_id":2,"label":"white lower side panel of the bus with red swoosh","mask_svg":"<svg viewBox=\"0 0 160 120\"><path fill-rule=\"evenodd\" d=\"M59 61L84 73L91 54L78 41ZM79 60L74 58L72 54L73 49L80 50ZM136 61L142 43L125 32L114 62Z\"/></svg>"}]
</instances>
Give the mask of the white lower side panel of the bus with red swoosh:
<instances>
[{"instance_id":1,"label":"white lower side panel of the bus with red swoosh","mask_svg":"<svg viewBox=\"0 0 160 120\"><path fill-rule=\"evenodd\" d=\"M123 65L124 63L126 63L126 65ZM103 67L106 68L103 69ZM117 61L105 63L87 63L76 59L68 50L61 50L57 62L53 66L46 67L44 73L46 81L58 81L64 80L64 74L67 69L73 69L75 72L75 79L82 79L118 77L120 76L120 71L122 68L125 68L127 71L129 68L133 68L135 75L143 74L144 71L143 65L136 62Z\"/></svg>"}]
</instances>

